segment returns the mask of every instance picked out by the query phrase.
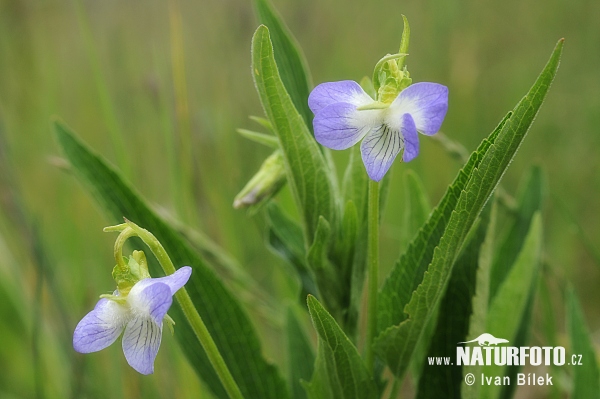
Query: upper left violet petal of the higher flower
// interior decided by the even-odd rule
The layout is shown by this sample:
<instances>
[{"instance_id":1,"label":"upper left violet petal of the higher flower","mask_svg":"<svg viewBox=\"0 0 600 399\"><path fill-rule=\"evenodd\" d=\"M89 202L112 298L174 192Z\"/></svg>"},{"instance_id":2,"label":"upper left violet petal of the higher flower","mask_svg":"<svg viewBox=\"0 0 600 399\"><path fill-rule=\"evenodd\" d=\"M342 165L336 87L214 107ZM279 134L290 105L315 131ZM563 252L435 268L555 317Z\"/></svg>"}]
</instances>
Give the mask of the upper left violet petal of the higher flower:
<instances>
[{"instance_id":1,"label":"upper left violet petal of the higher flower","mask_svg":"<svg viewBox=\"0 0 600 399\"><path fill-rule=\"evenodd\" d=\"M373 99L353 80L326 82L317 85L308 96L308 106L314 114L335 103L360 106L372 103Z\"/></svg>"}]
</instances>

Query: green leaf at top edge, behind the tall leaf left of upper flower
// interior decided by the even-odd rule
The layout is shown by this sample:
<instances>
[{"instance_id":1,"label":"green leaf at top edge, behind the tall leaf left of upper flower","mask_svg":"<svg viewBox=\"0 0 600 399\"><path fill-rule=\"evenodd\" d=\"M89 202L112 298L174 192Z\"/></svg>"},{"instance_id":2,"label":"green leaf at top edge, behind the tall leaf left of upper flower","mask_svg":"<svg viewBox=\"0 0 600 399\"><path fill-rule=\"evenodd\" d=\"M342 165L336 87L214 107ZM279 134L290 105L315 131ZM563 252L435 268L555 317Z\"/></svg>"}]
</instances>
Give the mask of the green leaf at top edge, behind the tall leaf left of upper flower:
<instances>
[{"instance_id":1,"label":"green leaf at top edge, behind the tall leaf left of upper flower","mask_svg":"<svg viewBox=\"0 0 600 399\"><path fill-rule=\"evenodd\" d=\"M271 32L281 82L304 118L306 126L312 129L312 112L308 108L308 94L312 84L302 49L269 0L255 0L254 3L260 23Z\"/></svg>"}]
</instances>

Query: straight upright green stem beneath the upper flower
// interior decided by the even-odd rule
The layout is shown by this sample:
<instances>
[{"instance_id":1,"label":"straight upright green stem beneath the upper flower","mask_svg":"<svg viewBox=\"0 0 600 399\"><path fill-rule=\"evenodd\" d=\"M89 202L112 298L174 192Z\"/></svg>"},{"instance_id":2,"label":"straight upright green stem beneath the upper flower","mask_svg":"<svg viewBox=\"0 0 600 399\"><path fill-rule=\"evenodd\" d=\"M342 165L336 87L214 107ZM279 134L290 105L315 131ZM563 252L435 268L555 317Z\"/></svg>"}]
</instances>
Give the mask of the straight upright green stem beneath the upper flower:
<instances>
[{"instance_id":1,"label":"straight upright green stem beneath the upper flower","mask_svg":"<svg viewBox=\"0 0 600 399\"><path fill-rule=\"evenodd\" d=\"M368 253L367 264L369 267L368 286L368 321L367 321L367 368L373 372L375 355L373 353L373 340L377 329L377 290L379 280L379 183L369 180L369 210L367 215Z\"/></svg>"}]
</instances>

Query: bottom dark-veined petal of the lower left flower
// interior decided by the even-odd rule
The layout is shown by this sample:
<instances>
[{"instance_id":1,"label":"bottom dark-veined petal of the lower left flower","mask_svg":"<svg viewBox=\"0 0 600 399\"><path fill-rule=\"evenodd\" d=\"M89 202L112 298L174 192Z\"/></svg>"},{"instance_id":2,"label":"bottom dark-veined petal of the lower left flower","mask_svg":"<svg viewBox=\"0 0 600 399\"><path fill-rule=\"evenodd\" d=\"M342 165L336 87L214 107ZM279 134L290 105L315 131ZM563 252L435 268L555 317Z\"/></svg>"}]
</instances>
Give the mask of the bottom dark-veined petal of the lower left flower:
<instances>
[{"instance_id":1,"label":"bottom dark-veined petal of the lower left flower","mask_svg":"<svg viewBox=\"0 0 600 399\"><path fill-rule=\"evenodd\" d=\"M140 374L152 374L161 338L162 323L157 324L152 318L143 316L131 320L123 334L127 363Z\"/></svg>"}]
</instances>

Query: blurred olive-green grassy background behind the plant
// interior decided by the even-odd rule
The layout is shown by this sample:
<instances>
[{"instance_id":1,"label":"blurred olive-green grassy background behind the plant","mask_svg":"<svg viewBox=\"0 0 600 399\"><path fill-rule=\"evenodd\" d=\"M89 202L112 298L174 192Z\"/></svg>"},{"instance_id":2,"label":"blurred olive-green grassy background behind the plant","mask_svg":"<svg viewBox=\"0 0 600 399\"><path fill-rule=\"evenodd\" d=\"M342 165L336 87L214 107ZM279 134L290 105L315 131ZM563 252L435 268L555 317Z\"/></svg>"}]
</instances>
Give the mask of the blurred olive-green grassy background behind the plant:
<instances>
[{"instance_id":1,"label":"blurred olive-green grassy background behind the plant","mask_svg":"<svg viewBox=\"0 0 600 399\"><path fill-rule=\"evenodd\" d=\"M411 75L449 87L442 129L469 150L566 38L557 79L503 186L514 193L532 164L546 171L546 264L555 281L573 282L598 342L600 2L273 3L315 84L370 75L397 51L407 15ZM150 377L127 366L119 345L72 350L79 319L113 290L115 237L102 232L107 219L60 159L53 115L162 212L229 251L262 289L295 299L282 261L263 244L262 215L231 206L270 153L235 132L257 128L248 115L262 116L250 74L256 27L249 0L0 0L0 397L210 397L167 331ZM402 170L414 169L436 203L460 167L434 140L421 143L417 160L394 166L382 276L401 249ZM347 154L335 155L343 170ZM278 315L248 310L267 357L282 364Z\"/></svg>"}]
</instances>

